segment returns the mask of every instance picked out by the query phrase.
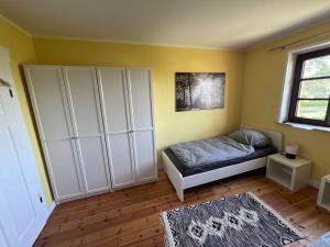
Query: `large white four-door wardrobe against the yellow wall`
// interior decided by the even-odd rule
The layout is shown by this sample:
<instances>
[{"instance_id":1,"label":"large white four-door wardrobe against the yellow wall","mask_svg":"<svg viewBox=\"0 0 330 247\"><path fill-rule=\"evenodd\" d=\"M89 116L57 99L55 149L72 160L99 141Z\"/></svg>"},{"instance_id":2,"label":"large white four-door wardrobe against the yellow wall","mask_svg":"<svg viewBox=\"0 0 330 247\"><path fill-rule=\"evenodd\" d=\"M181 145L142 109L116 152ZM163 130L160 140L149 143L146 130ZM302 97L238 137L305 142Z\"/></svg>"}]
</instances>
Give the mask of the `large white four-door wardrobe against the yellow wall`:
<instances>
[{"instance_id":1,"label":"large white four-door wardrobe against the yellow wall","mask_svg":"<svg viewBox=\"0 0 330 247\"><path fill-rule=\"evenodd\" d=\"M24 71L57 202L157 179L148 69Z\"/></svg>"}]
</instances>

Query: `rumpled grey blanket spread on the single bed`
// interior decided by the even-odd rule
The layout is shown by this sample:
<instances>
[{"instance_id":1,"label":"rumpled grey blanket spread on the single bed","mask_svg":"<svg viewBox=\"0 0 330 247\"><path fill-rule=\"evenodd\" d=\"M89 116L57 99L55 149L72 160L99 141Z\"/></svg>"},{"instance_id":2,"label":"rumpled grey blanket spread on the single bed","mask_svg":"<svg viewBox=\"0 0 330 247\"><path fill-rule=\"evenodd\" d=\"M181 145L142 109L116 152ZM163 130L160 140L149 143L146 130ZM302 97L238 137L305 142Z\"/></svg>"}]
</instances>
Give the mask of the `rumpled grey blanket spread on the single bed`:
<instances>
[{"instance_id":1,"label":"rumpled grey blanket spread on the single bed","mask_svg":"<svg viewBox=\"0 0 330 247\"><path fill-rule=\"evenodd\" d=\"M187 167L198 167L216 161L240 158L254 153L254 148L219 136L170 146L172 151Z\"/></svg>"}]
</instances>

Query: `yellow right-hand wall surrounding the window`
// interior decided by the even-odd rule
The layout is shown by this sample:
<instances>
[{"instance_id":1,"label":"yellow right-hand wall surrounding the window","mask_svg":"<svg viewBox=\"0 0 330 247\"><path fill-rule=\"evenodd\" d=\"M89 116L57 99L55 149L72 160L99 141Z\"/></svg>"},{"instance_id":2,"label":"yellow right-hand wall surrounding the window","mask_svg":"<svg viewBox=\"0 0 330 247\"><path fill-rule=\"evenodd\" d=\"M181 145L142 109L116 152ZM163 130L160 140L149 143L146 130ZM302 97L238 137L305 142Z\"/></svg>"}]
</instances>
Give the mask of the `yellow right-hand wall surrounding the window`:
<instances>
[{"instance_id":1,"label":"yellow right-hand wall surrounding the window","mask_svg":"<svg viewBox=\"0 0 330 247\"><path fill-rule=\"evenodd\" d=\"M288 50L321 40L304 42L286 50L267 52L267 49L329 30L330 23L321 24L250 50L245 55L244 65L242 123L279 131L284 133L285 142L299 144L300 155L314 161L314 180L330 173L330 133L299 130L275 122L278 116ZM329 36L328 40L323 37L323 41L329 42Z\"/></svg>"}]
</instances>

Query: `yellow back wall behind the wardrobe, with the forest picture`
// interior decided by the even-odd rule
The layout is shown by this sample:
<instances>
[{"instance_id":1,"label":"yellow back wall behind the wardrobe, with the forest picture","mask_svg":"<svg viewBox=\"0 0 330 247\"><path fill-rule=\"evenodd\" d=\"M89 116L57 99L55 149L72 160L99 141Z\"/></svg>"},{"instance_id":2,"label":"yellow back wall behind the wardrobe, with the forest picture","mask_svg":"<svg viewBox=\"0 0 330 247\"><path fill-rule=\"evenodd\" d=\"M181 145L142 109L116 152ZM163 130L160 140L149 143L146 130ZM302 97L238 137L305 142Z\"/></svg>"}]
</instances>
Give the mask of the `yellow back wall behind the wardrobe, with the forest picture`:
<instances>
[{"instance_id":1,"label":"yellow back wall behind the wardrobe, with the forest picture","mask_svg":"<svg viewBox=\"0 0 330 247\"><path fill-rule=\"evenodd\" d=\"M168 145L229 133L240 124L243 53L52 38L33 42L38 64L151 67L158 154ZM175 112L176 71L226 72L226 108Z\"/></svg>"}]
</instances>

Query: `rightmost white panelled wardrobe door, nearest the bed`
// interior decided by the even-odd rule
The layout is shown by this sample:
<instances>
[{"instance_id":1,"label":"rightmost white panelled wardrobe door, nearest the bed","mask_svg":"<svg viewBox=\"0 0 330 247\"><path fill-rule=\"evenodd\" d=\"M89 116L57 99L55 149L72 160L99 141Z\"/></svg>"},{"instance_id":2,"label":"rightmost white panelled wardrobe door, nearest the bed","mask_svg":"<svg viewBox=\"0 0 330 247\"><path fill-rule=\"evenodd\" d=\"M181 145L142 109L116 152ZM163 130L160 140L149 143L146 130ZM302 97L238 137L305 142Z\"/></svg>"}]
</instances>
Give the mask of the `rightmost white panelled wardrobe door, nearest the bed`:
<instances>
[{"instance_id":1,"label":"rightmost white panelled wardrobe door, nearest the bed","mask_svg":"<svg viewBox=\"0 0 330 247\"><path fill-rule=\"evenodd\" d=\"M157 177L151 71L145 68L127 69L132 138L136 164L136 181L154 180Z\"/></svg>"}]
</instances>

